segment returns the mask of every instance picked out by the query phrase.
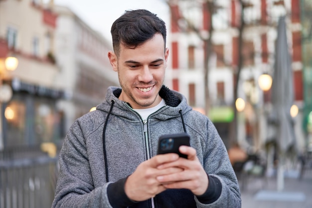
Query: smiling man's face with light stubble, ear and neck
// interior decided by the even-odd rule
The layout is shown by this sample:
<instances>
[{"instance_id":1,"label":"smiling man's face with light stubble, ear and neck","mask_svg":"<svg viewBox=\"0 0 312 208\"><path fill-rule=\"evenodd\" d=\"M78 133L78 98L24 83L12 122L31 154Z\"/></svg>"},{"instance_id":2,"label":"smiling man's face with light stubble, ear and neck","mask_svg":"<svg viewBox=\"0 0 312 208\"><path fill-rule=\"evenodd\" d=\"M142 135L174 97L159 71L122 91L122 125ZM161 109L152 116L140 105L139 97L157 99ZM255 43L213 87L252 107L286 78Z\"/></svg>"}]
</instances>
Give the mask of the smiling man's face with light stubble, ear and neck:
<instances>
[{"instance_id":1,"label":"smiling man's face with light stubble, ear and neck","mask_svg":"<svg viewBox=\"0 0 312 208\"><path fill-rule=\"evenodd\" d=\"M118 72L122 87L120 100L134 109L155 107L161 101L158 92L162 86L167 66L168 49L164 50L161 34L135 49L121 44L119 57L112 51L108 57L114 71Z\"/></svg>"}]
</instances>

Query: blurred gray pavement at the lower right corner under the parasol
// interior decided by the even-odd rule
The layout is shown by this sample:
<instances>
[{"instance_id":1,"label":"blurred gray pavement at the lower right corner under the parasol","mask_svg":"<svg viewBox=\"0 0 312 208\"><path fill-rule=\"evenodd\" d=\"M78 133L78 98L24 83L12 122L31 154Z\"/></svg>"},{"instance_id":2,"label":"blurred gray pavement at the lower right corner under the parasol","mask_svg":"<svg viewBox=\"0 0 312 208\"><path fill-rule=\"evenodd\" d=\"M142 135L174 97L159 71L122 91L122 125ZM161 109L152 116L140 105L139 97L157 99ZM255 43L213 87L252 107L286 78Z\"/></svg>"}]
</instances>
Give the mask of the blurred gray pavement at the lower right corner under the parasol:
<instances>
[{"instance_id":1,"label":"blurred gray pavement at the lower right corner under the parasol","mask_svg":"<svg viewBox=\"0 0 312 208\"><path fill-rule=\"evenodd\" d=\"M284 183L284 190L279 193L276 177L248 179L241 190L242 208L312 208L312 170L301 180L285 177Z\"/></svg>"}]
</instances>

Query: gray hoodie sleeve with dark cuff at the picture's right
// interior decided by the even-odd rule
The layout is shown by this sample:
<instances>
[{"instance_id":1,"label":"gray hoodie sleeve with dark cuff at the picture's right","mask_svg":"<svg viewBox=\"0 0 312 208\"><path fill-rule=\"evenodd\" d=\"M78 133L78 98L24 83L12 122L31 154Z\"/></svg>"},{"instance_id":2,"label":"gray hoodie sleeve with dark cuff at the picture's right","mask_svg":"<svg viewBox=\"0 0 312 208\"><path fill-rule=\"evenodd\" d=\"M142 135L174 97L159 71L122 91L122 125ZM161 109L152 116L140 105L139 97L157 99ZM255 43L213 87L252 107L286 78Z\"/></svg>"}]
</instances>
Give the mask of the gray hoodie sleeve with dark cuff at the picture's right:
<instances>
[{"instance_id":1,"label":"gray hoodie sleeve with dark cuff at the picture's right","mask_svg":"<svg viewBox=\"0 0 312 208\"><path fill-rule=\"evenodd\" d=\"M225 145L210 120L207 123L207 140L203 149L203 166L214 191L208 189L196 196L198 208L241 208L238 181L231 166Z\"/></svg>"}]
</instances>

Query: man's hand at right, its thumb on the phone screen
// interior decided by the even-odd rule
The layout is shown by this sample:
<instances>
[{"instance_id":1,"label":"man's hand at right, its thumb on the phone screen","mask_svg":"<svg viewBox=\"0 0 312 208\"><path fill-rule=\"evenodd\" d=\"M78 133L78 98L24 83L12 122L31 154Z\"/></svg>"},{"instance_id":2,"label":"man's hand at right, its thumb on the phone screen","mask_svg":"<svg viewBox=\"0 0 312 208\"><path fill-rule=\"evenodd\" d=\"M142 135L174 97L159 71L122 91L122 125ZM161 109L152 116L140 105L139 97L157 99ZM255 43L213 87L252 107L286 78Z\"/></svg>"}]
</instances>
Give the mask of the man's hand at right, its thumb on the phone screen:
<instances>
[{"instance_id":1,"label":"man's hand at right, its thumb on the phone screen","mask_svg":"<svg viewBox=\"0 0 312 208\"><path fill-rule=\"evenodd\" d=\"M196 156L196 150L192 147L181 146L179 151L187 155L187 159L179 158L159 165L157 168L166 170L175 167L183 171L158 176L158 182L166 189L189 189L194 195L204 194L208 188L208 176Z\"/></svg>"}]
</instances>

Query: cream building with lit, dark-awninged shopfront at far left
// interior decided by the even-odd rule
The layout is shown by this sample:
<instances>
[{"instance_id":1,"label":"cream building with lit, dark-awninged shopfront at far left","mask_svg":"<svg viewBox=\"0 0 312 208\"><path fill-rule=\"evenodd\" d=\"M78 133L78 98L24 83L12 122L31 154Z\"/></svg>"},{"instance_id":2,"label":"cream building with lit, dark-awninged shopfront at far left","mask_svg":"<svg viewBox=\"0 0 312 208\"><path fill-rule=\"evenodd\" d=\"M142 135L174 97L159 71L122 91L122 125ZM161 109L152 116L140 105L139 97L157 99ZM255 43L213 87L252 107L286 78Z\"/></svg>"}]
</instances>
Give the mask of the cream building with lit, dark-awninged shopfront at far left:
<instances>
[{"instance_id":1,"label":"cream building with lit, dark-awninged shopfront at far left","mask_svg":"<svg viewBox=\"0 0 312 208\"><path fill-rule=\"evenodd\" d=\"M6 56L15 56L14 71L3 71L12 98L2 103L2 145L34 145L60 137L56 101L63 97L55 85L59 68L54 59L57 15L37 0L0 1L0 39ZM57 130L56 130L57 129Z\"/></svg>"}]
</instances>

